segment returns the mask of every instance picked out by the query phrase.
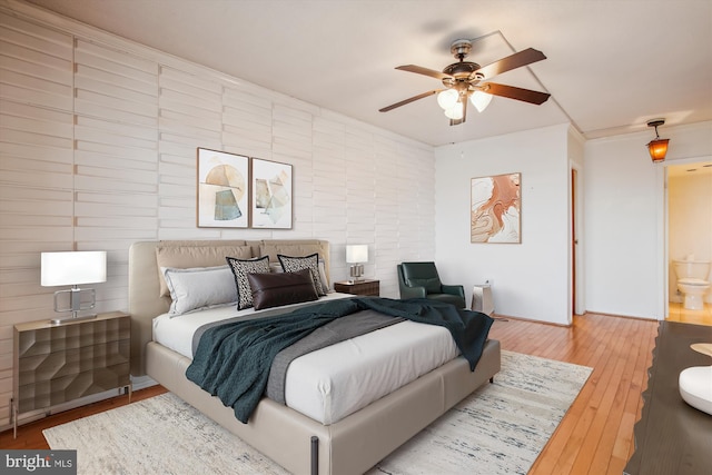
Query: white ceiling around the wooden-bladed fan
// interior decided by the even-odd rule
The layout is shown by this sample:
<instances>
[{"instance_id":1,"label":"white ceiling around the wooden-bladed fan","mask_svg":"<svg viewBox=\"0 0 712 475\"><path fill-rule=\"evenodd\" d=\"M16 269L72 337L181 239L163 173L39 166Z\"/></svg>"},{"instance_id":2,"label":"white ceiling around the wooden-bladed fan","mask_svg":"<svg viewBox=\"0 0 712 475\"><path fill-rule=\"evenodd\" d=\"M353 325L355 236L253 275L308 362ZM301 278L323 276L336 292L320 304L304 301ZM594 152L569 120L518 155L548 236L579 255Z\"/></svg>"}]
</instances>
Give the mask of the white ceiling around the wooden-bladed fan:
<instances>
[{"instance_id":1,"label":"white ceiling around the wooden-bladed fan","mask_svg":"<svg viewBox=\"0 0 712 475\"><path fill-rule=\"evenodd\" d=\"M29 0L66 17L345 116L439 146L571 122L586 138L712 120L710 0ZM493 78L550 92L495 97L451 127L441 86L456 39L482 66L535 48L547 59ZM651 138L653 137L651 131Z\"/></svg>"}]
</instances>

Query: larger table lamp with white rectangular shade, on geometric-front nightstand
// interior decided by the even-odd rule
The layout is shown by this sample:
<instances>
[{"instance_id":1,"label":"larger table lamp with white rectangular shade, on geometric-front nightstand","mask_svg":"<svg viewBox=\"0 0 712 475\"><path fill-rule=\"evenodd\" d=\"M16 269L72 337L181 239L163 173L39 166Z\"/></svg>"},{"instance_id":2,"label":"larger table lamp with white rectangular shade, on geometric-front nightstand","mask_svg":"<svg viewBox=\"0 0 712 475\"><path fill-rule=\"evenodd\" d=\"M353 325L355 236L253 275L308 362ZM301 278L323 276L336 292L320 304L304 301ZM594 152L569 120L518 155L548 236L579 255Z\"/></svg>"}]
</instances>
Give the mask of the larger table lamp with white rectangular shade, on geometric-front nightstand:
<instances>
[{"instance_id":1,"label":"larger table lamp with white rectangular shade, on geometric-front nightstand","mask_svg":"<svg viewBox=\"0 0 712 475\"><path fill-rule=\"evenodd\" d=\"M79 285L105 281L107 281L107 253L103 250L42 253L42 287L72 286L71 289L55 293L55 311L71 311L71 317L52 318L53 324L96 318L96 315L79 316L79 311L89 310L96 305L95 289L79 288ZM69 294L68 308L59 306L59 297L63 294ZM90 301L82 301L82 294L89 294Z\"/></svg>"}]
</instances>

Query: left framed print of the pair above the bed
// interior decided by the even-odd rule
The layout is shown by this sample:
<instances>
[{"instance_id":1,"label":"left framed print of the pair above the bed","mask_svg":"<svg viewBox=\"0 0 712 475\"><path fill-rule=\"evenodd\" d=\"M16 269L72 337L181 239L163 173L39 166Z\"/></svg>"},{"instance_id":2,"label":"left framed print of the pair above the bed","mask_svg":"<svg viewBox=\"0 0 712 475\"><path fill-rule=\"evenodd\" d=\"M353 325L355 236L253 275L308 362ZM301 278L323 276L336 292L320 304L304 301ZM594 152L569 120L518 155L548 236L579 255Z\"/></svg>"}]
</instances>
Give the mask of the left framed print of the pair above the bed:
<instances>
[{"instance_id":1,"label":"left framed print of the pair above the bed","mask_svg":"<svg viewBox=\"0 0 712 475\"><path fill-rule=\"evenodd\" d=\"M249 226L249 158L198 148L198 227Z\"/></svg>"}]
</instances>

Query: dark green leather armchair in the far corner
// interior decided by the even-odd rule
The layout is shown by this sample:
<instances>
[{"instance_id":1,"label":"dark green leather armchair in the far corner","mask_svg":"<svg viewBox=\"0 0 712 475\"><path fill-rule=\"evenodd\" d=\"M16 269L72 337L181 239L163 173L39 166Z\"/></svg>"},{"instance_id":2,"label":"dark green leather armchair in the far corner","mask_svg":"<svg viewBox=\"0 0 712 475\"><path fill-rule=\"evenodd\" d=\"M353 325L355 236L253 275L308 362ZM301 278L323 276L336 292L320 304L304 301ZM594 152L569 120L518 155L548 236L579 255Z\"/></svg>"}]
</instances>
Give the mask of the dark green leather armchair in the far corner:
<instances>
[{"instance_id":1,"label":"dark green leather armchair in the far corner","mask_svg":"<svg viewBox=\"0 0 712 475\"><path fill-rule=\"evenodd\" d=\"M465 308L464 287L441 283L435 263L402 263L397 268L400 298L427 298Z\"/></svg>"}]
</instances>

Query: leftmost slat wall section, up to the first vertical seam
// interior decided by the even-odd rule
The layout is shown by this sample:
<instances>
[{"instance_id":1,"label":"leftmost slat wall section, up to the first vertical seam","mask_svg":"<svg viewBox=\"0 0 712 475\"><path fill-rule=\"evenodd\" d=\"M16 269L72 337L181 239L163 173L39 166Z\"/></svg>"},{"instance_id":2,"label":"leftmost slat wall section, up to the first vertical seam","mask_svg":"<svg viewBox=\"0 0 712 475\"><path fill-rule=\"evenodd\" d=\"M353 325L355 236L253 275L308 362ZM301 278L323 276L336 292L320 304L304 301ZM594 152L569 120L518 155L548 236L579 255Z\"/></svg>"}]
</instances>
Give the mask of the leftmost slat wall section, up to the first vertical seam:
<instances>
[{"instance_id":1,"label":"leftmost slat wall section, up to the first vertical seam","mask_svg":"<svg viewBox=\"0 0 712 475\"><path fill-rule=\"evenodd\" d=\"M0 420L12 325L48 317L40 251L71 249L72 37L0 11ZM51 310L50 310L51 311Z\"/></svg>"}]
</instances>

